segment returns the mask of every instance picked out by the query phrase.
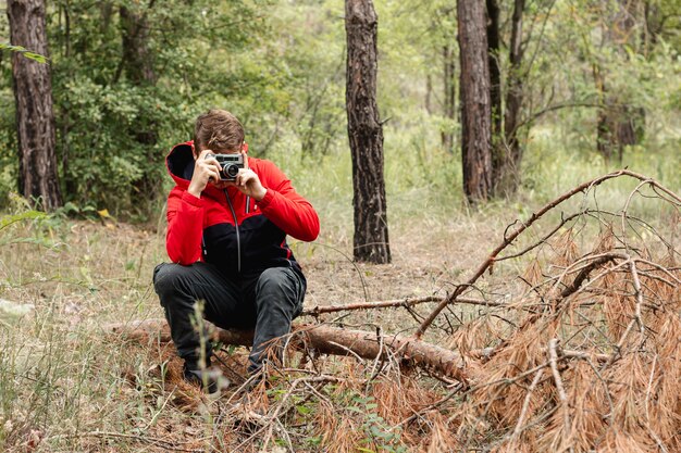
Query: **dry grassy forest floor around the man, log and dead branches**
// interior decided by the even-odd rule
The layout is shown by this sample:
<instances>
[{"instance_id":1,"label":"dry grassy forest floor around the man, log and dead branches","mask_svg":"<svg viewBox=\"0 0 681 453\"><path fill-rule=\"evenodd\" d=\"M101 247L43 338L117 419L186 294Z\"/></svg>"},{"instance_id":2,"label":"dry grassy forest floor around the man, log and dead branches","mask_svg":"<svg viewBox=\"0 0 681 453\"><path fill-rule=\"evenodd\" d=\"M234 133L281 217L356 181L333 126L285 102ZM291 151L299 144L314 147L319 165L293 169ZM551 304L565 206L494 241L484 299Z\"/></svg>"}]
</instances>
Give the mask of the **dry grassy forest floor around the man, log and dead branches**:
<instances>
[{"instance_id":1,"label":"dry grassy forest floor around the man, log and dead branches","mask_svg":"<svg viewBox=\"0 0 681 453\"><path fill-rule=\"evenodd\" d=\"M616 199L621 203L627 202L627 197ZM664 201L660 203L665 204ZM631 205L632 211L634 204ZM678 232L674 232L679 226L678 210L674 213L673 209L669 211L657 205L651 206L648 202L640 206L644 207L636 215L654 222L657 229L653 232L671 238L667 243L671 243L671 250L676 247L678 251L680 239ZM428 215L422 215L414 209L408 215L391 219L392 263L372 265L354 263L349 259L351 225L333 215L326 215L321 210L320 238L313 243L292 242L294 253L302 264L308 279L306 307L428 295L444 297L473 274L494 247L504 240L505 231L508 232L507 227L519 216L527 218L527 212L523 207L522 213L519 213L518 204L498 204L486 211L457 209L449 213L442 211ZM564 215L562 211L547 215L545 225L536 230L528 230L527 237L513 250L541 242L549 227L559 223ZM570 255L572 260L579 261L584 256L589 257L592 252L603 253L603 242L609 240L609 229L603 226L605 217L605 214L597 217L597 226L594 228L587 225L585 217L581 225L577 225L578 231L569 241L564 238L568 228L560 229L559 235L562 237L552 238L550 244L538 248L541 252L504 262L493 273L485 273L474 290L469 291L469 295L499 300L510 297L509 294L522 294L518 300L529 303L532 297L519 288L532 278L549 278L550 273L559 267L552 261L554 255L560 255L560 259ZM162 219L159 224L163 225ZM647 256L653 260L659 248L653 244L655 238L649 236L651 229L643 229L644 242L652 244ZM5 451L435 452L498 449L499 445L507 449L499 451L516 451L513 449L517 444L512 442L519 439L525 441L525 446L535 445L528 446L527 451L542 451L537 449L545 449L547 445L555 448L566 439L578 442L577 451L581 451L579 445L596 442L592 438L582 439L577 436L564 438L557 431L562 425L555 423L554 418L561 420L562 415L556 410L560 399L555 392L560 390L561 385L553 386L550 379L532 383L532 373L537 366L540 370L544 366L548 369L548 362L537 358L547 354L546 344L550 338L547 336L562 338L565 345L572 349L577 347L570 342L579 341L580 347L590 351L590 354L595 354L594 361L600 360L597 357L612 350L608 347L609 342L592 341L595 335L593 332L607 330L610 335L611 330L616 340L623 329L608 324L608 310L605 310L605 320L602 319L603 312L591 312L593 302L585 303L586 299L578 301L581 304L579 306L586 306L585 309L565 313L565 317L562 313L555 315L549 323L537 324L536 330L532 330L534 326L527 329L530 342L522 337L522 329L518 330L522 335L518 340L519 344L515 345L513 354L517 351L524 352L521 356L504 358L505 363L511 363L517 368L512 372L517 376L495 375L503 368L498 364L491 365L496 368L485 368L490 379L500 377L500 380L506 379L506 385L517 381L517 387L523 389L520 394L507 389L510 400L502 399L497 402L497 397L488 400L488 395L470 393L473 390L481 391L473 388L466 392L471 400L465 404L466 400L451 398L449 393L451 389L460 391L460 386L457 387L451 380L443 381L442 377L429 372L405 370L396 363L393 364L395 366L382 363L376 372L377 362L354 357L315 357L312 361L314 363L304 364L300 354L296 353L298 355L293 355L294 363L300 369L292 372L288 380L275 379L271 389L260 393L265 414L272 418L265 417L265 426L256 424L253 427L250 423L242 423L243 417L234 412L239 399L235 390L245 376L244 363L248 352L246 348L223 345L219 354L223 361L220 366L232 386L225 389L221 398L212 399L179 378L181 363L174 355L172 344L159 341L138 344L122 336L107 332L106 326L111 323L162 318L162 311L151 285L151 273L157 263L166 260L163 227L144 228L117 223L108 217L100 221L49 217L2 224L0 234L0 446ZM628 235L615 237L621 239ZM566 250L569 253L564 253ZM619 249L615 247L612 250ZM678 253L671 253L673 261ZM540 272L532 270L540 259L543 266L548 263L547 267ZM615 274L616 267L612 268L612 275L619 278ZM679 278L678 267L676 270L673 266L670 268L670 275L660 274L651 278L656 281ZM644 270L651 272L641 269L642 273ZM536 274L534 277L533 273ZM630 276L622 278L626 279L629 282L618 287L620 299L622 288L631 287ZM615 284L610 281L609 285ZM537 285L533 291L538 294L543 291L541 288ZM604 288L598 288L602 295L605 293ZM655 291L663 294L663 289L656 288ZM663 294L671 303L671 313L674 313L673 304L681 303L680 293L677 286L668 295ZM540 294L531 303L544 303L543 298L546 294L548 292ZM581 295L594 298L593 294ZM607 299L605 295L603 298L606 303ZM646 300L649 304L655 302L653 298ZM443 312L424 339L433 344L463 352L499 344L499 338L506 338L506 344L511 344L516 341L517 336L513 334L517 334L515 329L519 319L523 319L522 313L527 311L527 305L523 306L518 312L520 314L517 314L512 312L517 306L509 309L510 312L494 312L485 307L457 304ZM322 319L334 326L370 332L381 329L386 334L411 335L416 331L418 322L433 307L434 304L426 303L414 307L411 313L400 309L334 313L323 316ZM583 324L578 327L571 324L578 316L595 316L599 320L594 326L590 324L587 327L593 329L585 334ZM671 322L666 320L667 324L664 325L671 323L676 329L680 325L677 313L676 320L672 316ZM528 318L524 319L527 322ZM647 317L645 319L651 325L663 322ZM314 319L304 317L299 322L309 323ZM562 327L556 327L559 324ZM655 331L659 334L666 330L660 327ZM674 332L676 330L672 331L673 335ZM622 337L622 344L626 344L624 337L627 334ZM592 344L594 348L591 348ZM544 349L540 350L540 347ZM499 355L503 355L504 350L500 351ZM676 373L673 360L666 362L669 354L674 356L673 351L676 350L651 354L644 365L640 366L644 375L642 381L649 381L647 390L643 388L643 394L656 394L659 404L663 397L670 398L670 389L678 390L678 383L674 387L661 377L653 378L657 376L658 367L660 376L665 369ZM473 356L469 360L476 361ZM565 356L560 360L565 360ZM493 361L494 358L490 363ZM667 368L663 369L663 366ZM471 369L474 372L475 367L471 365ZM566 362L564 367L552 366L552 369L565 376L568 398L572 398L571 391L580 389L574 383L580 379L572 365L568 367ZM573 372L574 375L571 374ZM620 372L618 368L617 373ZM596 382L600 381L604 373L609 373L609 369L602 369L600 374L596 372ZM308 375L318 380L310 378L307 381ZM545 376L549 375L550 373L546 373ZM370 376L374 379L369 378ZM537 373L537 379L540 377L541 374ZM605 379L608 380L607 375ZM493 385L490 381L485 386L493 389ZM570 387L572 385L574 389ZM301 388L295 388L296 386ZM594 383L589 386L593 388ZM535 393L546 398L544 405L522 404L525 398L530 401L535 387ZM633 386L630 390L632 389ZM618 393L612 390L609 394L615 399ZM442 399L446 395L449 397L443 402ZM640 401L646 401L647 413L649 398L642 398L633 390L632 395L637 395ZM481 412L479 406L471 406L470 401L475 401L472 397L479 397L481 402L485 402L486 408ZM607 399L602 398L602 401ZM666 408L663 407L663 414L669 413L673 401L677 400L671 400ZM505 419L499 408L494 406L497 403L512 413L510 419ZM439 410L428 411L433 404L439 404ZM615 404L618 405L617 401ZM466 412L469 408L471 412ZM462 412L459 413L459 410ZM658 410L661 408L656 407ZM543 437L534 428L510 436L521 425L518 419L530 419L533 412L536 417L533 424L546 423L547 425L542 426L553 437L546 439L546 436ZM490 417L487 421L483 423L482 418L471 421L476 417L471 414L482 413ZM617 411L612 413L619 414ZM623 419L631 418L630 413L621 415ZM417 417L416 420L413 417ZM578 424L579 415L574 415L573 419ZM668 430L674 432L679 423L678 414L669 415ZM651 432L667 429L664 423L660 425L648 420L647 425L648 428L655 426L654 430L649 428ZM575 425L575 429L578 428ZM463 438L465 442L461 440ZM603 439L609 438L602 436L599 439L598 442L605 442L608 448L623 444L620 438L604 441ZM678 444L674 442L681 441L678 436L670 438L661 433L652 433L646 439L636 439L636 442L639 445L655 446L663 443L673 446ZM617 451L617 448L610 451Z\"/></svg>"}]
</instances>

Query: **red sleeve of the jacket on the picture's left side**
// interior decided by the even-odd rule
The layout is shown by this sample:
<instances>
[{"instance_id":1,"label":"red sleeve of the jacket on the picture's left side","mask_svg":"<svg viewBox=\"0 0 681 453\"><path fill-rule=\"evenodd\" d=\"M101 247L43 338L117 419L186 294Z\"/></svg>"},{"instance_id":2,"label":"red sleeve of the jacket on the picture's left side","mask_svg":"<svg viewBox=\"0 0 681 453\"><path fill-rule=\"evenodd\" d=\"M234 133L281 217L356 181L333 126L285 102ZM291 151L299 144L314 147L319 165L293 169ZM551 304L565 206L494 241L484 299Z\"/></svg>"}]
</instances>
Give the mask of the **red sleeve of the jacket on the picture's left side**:
<instances>
[{"instance_id":1,"label":"red sleeve of the jacket on the picture's left side","mask_svg":"<svg viewBox=\"0 0 681 453\"><path fill-rule=\"evenodd\" d=\"M185 266L201 257L203 200L175 187L168 197L165 250L173 263Z\"/></svg>"}]
</instances>

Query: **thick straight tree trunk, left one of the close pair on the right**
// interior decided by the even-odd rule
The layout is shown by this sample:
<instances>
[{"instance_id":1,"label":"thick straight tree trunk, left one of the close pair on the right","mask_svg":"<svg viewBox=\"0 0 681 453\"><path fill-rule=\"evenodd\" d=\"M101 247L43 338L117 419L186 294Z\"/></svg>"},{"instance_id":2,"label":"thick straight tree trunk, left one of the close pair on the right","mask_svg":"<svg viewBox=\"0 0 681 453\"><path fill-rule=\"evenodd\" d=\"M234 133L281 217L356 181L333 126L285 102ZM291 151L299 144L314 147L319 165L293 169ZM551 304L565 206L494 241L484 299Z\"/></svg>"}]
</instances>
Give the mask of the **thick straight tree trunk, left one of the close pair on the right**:
<instances>
[{"instance_id":1,"label":"thick straight tree trunk, left one of the close pair on the right","mask_svg":"<svg viewBox=\"0 0 681 453\"><path fill-rule=\"evenodd\" d=\"M461 62L461 160L463 191L472 203L490 198L492 189L490 62L485 5L457 1Z\"/></svg>"}]
</instances>

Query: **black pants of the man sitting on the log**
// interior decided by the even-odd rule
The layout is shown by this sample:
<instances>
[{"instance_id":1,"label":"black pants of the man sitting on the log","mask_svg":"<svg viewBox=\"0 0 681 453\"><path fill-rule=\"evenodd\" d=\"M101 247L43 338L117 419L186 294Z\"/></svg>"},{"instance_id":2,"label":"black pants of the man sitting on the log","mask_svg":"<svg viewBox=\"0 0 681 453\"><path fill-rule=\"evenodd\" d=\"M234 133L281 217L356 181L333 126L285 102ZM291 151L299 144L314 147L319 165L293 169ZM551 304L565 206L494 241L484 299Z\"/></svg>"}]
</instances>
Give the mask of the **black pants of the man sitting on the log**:
<instances>
[{"instance_id":1,"label":"black pants of the man sitting on the log","mask_svg":"<svg viewBox=\"0 0 681 453\"><path fill-rule=\"evenodd\" d=\"M272 340L290 331L292 320L302 311L307 286L302 274L294 267L271 267L231 279L213 265L197 262L190 266L159 264L153 269L153 287L181 357L196 362L200 356L201 337L193 319L195 304L203 301L202 315L214 325L225 329L255 328L248 357L248 369L255 373L262 366ZM281 358L281 345L274 348ZM210 344L206 344L205 352L207 357L211 355Z\"/></svg>"}]
</instances>

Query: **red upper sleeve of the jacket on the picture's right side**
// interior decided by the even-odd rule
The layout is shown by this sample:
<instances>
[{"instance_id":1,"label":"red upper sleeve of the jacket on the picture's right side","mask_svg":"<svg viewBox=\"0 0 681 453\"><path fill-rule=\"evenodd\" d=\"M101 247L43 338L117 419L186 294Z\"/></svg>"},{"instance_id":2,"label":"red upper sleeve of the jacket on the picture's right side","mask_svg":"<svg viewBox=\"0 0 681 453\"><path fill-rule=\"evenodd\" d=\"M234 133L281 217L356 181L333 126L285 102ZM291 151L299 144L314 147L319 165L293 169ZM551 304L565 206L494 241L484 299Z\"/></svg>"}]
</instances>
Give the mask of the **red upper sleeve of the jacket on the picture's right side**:
<instances>
[{"instance_id":1,"label":"red upper sleeve of the jacket on the picture's right side","mask_svg":"<svg viewBox=\"0 0 681 453\"><path fill-rule=\"evenodd\" d=\"M313 241L319 236L319 217L312 204L299 196L290 185L290 180L274 164L267 166L267 179L263 186L268 189L258 205L274 225L285 234L301 241Z\"/></svg>"}]
</instances>

